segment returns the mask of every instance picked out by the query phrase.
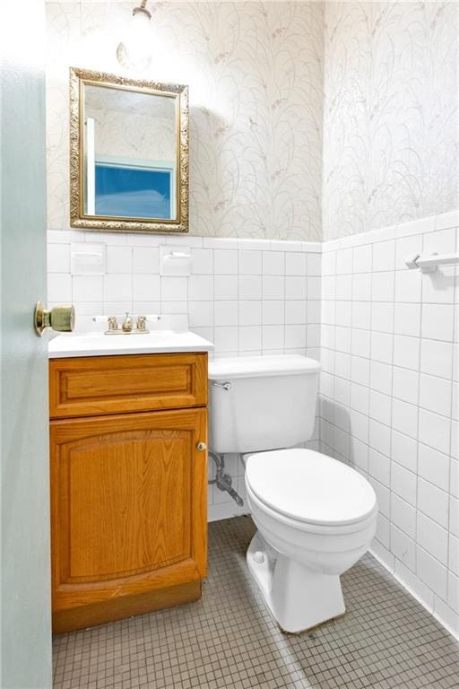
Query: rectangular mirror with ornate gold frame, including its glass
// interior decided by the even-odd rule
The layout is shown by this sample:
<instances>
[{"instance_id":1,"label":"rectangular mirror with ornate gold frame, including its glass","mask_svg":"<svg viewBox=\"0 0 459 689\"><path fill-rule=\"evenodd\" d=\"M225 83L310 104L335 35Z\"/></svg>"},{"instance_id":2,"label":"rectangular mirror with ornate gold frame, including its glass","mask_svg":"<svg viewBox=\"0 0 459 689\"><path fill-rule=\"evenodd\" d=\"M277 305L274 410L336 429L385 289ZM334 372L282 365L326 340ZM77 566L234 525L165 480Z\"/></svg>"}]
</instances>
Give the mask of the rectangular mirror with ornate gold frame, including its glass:
<instances>
[{"instance_id":1,"label":"rectangular mirror with ornate gold frame, including its glass","mask_svg":"<svg viewBox=\"0 0 459 689\"><path fill-rule=\"evenodd\" d=\"M188 87L70 68L70 224L188 231Z\"/></svg>"}]
</instances>

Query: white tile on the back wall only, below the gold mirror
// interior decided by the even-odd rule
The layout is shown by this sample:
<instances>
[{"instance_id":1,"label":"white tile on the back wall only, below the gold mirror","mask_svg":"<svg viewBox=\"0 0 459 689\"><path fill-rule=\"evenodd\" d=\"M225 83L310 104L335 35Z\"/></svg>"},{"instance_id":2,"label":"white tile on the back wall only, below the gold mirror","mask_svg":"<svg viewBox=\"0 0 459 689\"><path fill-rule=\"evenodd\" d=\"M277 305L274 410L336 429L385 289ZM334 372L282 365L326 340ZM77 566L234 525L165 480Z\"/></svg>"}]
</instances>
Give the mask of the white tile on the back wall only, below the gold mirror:
<instances>
[{"instance_id":1,"label":"white tile on the back wall only, below the gold mirror","mask_svg":"<svg viewBox=\"0 0 459 689\"><path fill-rule=\"evenodd\" d=\"M105 275L71 275L72 242L102 244ZM192 275L159 275L159 247L191 247ZM187 313L190 327L210 339L216 356L307 353L318 357L321 317L320 244L200 237L48 232L48 302L73 301L79 313ZM311 447L318 447L318 423ZM237 457L226 473L244 494ZM209 462L213 478L213 463ZM209 519L247 511L209 488Z\"/></svg>"}]
</instances>

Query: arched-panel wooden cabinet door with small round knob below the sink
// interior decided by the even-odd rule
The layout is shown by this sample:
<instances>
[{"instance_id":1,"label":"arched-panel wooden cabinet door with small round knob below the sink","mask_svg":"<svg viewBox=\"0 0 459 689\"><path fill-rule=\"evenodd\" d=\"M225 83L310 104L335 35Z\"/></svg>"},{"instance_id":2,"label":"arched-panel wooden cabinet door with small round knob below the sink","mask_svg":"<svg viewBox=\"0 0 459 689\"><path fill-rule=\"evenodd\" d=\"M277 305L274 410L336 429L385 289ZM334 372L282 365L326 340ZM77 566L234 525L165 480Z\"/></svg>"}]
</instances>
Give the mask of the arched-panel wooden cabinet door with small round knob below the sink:
<instances>
[{"instance_id":1,"label":"arched-panel wooden cabinet door with small round knob below the sink","mask_svg":"<svg viewBox=\"0 0 459 689\"><path fill-rule=\"evenodd\" d=\"M205 409L51 423L55 613L105 602L97 619L102 622L126 615L110 616L110 599L204 577L207 467L206 453L196 448L201 440ZM148 597L142 601L140 612L148 609Z\"/></svg>"}]
</instances>

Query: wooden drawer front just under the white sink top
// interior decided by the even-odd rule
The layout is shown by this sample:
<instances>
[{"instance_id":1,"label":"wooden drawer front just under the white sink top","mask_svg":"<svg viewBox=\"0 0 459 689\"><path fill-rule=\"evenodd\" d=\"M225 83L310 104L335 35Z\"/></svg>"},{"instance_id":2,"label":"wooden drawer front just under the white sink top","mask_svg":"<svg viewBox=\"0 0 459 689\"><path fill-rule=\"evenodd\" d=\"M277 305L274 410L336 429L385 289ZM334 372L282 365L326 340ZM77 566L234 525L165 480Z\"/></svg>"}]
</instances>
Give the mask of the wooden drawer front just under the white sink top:
<instances>
[{"instance_id":1,"label":"wooden drawer front just under the white sink top","mask_svg":"<svg viewBox=\"0 0 459 689\"><path fill-rule=\"evenodd\" d=\"M120 414L207 404L207 354L52 359L51 418Z\"/></svg>"}]
</instances>

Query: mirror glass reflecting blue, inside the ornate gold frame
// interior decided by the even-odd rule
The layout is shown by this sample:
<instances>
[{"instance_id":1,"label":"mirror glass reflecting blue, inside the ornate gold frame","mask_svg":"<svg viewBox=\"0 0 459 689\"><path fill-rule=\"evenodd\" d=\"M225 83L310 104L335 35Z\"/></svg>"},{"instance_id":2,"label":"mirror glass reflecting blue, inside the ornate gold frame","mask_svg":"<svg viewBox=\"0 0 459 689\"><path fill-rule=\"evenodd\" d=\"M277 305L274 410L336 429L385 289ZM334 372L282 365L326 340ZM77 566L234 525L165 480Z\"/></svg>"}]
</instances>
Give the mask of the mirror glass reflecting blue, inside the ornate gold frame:
<instances>
[{"instance_id":1,"label":"mirror glass reflecting blue, inside the ornate gold frame","mask_svg":"<svg viewBox=\"0 0 459 689\"><path fill-rule=\"evenodd\" d=\"M84 83L84 214L177 220L177 97Z\"/></svg>"}]
</instances>

